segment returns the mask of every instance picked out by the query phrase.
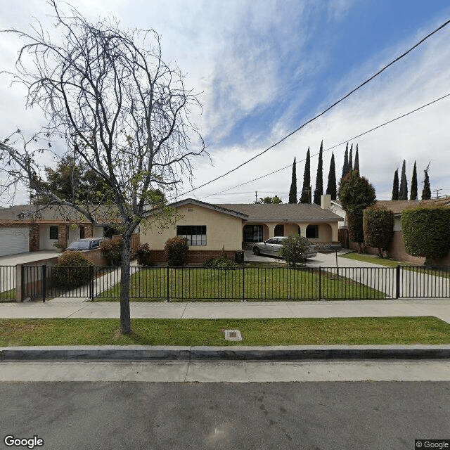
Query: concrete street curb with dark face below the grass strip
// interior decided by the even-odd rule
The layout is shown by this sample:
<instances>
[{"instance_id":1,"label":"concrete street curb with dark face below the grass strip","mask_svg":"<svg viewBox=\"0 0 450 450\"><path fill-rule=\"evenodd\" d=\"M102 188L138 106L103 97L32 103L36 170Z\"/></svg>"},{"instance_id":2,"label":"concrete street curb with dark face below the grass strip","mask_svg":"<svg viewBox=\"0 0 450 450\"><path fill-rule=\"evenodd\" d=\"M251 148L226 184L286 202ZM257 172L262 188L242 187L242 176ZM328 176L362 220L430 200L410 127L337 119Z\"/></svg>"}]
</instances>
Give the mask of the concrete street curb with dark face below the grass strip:
<instances>
[{"instance_id":1,"label":"concrete street curb with dark face below the grass strip","mask_svg":"<svg viewBox=\"0 0 450 450\"><path fill-rule=\"evenodd\" d=\"M450 345L290 345L273 347L4 347L0 361L323 361L450 359Z\"/></svg>"}]
</instances>

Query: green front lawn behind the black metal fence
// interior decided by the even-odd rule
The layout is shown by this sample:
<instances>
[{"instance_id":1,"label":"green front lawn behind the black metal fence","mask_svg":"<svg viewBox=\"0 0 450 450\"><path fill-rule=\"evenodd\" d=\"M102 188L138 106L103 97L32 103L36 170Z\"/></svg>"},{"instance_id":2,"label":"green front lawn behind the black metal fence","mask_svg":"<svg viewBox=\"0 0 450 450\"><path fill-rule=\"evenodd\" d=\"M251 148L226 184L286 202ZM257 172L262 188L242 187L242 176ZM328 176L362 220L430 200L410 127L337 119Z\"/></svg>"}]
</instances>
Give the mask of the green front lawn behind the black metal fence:
<instances>
[{"instance_id":1,"label":"green front lawn behind the black metal fence","mask_svg":"<svg viewBox=\"0 0 450 450\"><path fill-rule=\"evenodd\" d=\"M320 278L320 279L319 279ZM320 286L319 286L320 285ZM381 299L379 290L319 269L250 267L242 269L147 268L131 276L130 300L309 300L321 298ZM120 283L96 297L97 301L119 301Z\"/></svg>"}]
</instances>

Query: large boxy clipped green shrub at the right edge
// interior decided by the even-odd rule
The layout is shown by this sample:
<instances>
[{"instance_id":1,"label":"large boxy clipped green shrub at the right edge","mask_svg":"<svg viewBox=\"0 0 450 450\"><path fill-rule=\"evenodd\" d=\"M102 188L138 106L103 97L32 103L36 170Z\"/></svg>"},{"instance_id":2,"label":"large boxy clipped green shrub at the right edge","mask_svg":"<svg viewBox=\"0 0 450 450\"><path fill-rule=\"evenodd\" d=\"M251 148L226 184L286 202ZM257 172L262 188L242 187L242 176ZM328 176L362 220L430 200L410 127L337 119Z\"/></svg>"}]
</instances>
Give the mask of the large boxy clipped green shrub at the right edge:
<instances>
[{"instance_id":1,"label":"large boxy clipped green shrub at the right edge","mask_svg":"<svg viewBox=\"0 0 450 450\"><path fill-rule=\"evenodd\" d=\"M450 208L417 207L401 213L406 252L425 257L425 264L445 257L450 250Z\"/></svg>"}]
</instances>

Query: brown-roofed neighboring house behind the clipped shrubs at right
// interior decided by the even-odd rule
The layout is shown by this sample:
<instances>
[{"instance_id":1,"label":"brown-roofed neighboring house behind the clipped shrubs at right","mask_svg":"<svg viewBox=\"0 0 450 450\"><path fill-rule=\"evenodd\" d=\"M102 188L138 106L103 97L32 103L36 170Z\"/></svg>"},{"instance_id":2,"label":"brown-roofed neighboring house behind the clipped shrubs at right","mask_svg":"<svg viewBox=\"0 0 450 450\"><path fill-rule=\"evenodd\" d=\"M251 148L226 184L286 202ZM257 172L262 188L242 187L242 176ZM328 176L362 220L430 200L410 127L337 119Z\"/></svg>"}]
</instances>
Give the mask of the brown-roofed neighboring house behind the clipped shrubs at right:
<instances>
[{"instance_id":1,"label":"brown-roofed neighboring house behind the clipped shrubs at right","mask_svg":"<svg viewBox=\"0 0 450 450\"><path fill-rule=\"evenodd\" d=\"M394 212L394 236L390 248L387 250L387 257L397 259L397 261L412 262L414 264L423 264L424 257L414 257L406 253L401 233L401 212L406 209L418 206L448 206L450 207L450 197L432 198L430 200L377 200L376 206L385 207ZM358 250L358 245L350 243L350 248ZM373 255L378 255L378 249L366 247L366 251ZM439 265L450 266L450 255L439 262Z\"/></svg>"}]
</instances>

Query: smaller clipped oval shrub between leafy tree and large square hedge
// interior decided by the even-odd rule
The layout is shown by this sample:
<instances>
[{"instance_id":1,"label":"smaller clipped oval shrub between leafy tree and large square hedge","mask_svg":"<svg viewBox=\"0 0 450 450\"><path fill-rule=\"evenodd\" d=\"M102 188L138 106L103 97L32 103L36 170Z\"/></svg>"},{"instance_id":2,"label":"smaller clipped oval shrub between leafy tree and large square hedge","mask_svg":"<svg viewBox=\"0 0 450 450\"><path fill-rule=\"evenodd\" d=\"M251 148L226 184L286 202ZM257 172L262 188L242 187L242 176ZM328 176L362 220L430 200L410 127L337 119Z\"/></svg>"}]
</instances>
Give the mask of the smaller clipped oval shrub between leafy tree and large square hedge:
<instances>
[{"instance_id":1,"label":"smaller clipped oval shrub between leafy tree and large square hedge","mask_svg":"<svg viewBox=\"0 0 450 450\"><path fill-rule=\"evenodd\" d=\"M389 248L394 236L394 212L385 207L371 206L364 210L364 243L378 248L378 255L383 257L383 249Z\"/></svg>"}]
</instances>

